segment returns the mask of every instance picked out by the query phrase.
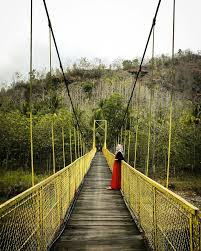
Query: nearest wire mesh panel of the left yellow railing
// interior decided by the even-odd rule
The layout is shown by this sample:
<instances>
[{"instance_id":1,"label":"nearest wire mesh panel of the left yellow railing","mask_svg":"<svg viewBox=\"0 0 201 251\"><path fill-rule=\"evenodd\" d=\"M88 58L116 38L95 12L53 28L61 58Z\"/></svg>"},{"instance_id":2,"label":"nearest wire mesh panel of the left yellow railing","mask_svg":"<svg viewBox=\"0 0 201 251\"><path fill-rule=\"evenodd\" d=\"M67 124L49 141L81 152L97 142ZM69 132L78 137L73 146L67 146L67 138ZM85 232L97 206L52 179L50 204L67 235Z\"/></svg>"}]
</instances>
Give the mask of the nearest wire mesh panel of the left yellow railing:
<instances>
[{"instance_id":1,"label":"nearest wire mesh panel of the left yellow railing","mask_svg":"<svg viewBox=\"0 0 201 251\"><path fill-rule=\"evenodd\" d=\"M34 240L38 234L37 207L38 194L27 195L22 201L13 204L9 210L5 210L0 218L0 250L20 250L33 241L33 245L38 246ZM22 215L24 218L22 219ZM24 227L23 227L24 225ZM4 236L4 238L2 238ZM37 239L37 238L35 238Z\"/></svg>"}]
</instances>

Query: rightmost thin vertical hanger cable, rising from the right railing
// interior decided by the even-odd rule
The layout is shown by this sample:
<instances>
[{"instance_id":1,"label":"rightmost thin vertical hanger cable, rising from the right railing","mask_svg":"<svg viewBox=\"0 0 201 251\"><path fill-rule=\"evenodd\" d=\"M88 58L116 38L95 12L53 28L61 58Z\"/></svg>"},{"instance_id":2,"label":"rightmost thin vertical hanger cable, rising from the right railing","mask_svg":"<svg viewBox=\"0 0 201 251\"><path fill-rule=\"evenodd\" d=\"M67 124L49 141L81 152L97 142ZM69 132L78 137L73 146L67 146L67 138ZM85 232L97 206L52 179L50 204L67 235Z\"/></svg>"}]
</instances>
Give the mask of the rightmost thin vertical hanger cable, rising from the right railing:
<instances>
[{"instance_id":1,"label":"rightmost thin vertical hanger cable, rising from the right railing","mask_svg":"<svg viewBox=\"0 0 201 251\"><path fill-rule=\"evenodd\" d=\"M170 173L170 156L171 156L171 143L172 143L172 103L173 103L173 86L175 84L175 63L174 63L174 46L175 46L175 0L173 0L173 21L172 21L172 86L170 94L170 120L169 120L169 141L168 141L168 163L167 163L167 180L166 187L169 185Z\"/></svg>"}]
</instances>

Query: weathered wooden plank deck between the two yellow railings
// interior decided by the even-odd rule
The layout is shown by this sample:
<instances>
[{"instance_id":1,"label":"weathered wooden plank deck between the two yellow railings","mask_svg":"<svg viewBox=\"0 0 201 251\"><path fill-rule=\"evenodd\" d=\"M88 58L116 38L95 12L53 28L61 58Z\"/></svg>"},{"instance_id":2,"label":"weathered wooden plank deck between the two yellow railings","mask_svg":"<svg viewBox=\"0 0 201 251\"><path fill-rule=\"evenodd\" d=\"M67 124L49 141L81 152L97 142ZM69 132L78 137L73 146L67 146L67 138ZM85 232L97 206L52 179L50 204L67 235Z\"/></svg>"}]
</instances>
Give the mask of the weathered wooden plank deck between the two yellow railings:
<instances>
[{"instance_id":1,"label":"weathered wooden plank deck between the two yellow railings","mask_svg":"<svg viewBox=\"0 0 201 251\"><path fill-rule=\"evenodd\" d=\"M121 193L106 189L110 180L106 160L97 153L68 224L51 250L146 250Z\"/></svg>"}]
</instances>

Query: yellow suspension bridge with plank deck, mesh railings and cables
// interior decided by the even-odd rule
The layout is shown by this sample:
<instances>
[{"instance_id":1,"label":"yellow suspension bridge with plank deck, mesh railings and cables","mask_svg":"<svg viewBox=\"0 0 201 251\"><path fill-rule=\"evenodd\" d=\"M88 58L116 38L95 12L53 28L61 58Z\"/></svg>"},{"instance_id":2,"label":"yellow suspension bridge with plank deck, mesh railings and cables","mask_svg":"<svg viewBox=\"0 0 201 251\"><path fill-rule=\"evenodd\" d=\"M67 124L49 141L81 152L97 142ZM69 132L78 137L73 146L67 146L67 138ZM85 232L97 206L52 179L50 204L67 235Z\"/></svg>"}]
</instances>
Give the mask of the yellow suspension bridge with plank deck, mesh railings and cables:
<instances>
[{"instance_id":1,"label":"yellow suspension bridge with plank deck, mesh railings and cables","mask_svg":"<svg viewBox=\"0 0 201 251\"><path fill-rule=\"evenodd\" d=\"M201 250L201 213L198 208L168 189L172 92L170 99L170 128L168 145L167 185L160 185L148 177L149 148L151 133L150 100L147 165L145 174L136 167L137 132L135 140L134 166L125 161L121 168L121 190L107 190L110 184L114 154L107 148L107 121L95 120L93 145L89 151L84 147L84 135L73 106L69 83L63 71L50 16L45 0L50 43L53 38L58 55L63 81L79 130L80 154L70 165L55 172L54 123L52 123L53 170L54 174L44 181L34 184L34 159L32 139L32 1L31 1L31 43L30 43L30 142L32 187L0 206L0 250ZM153 34L160 7L158 3L143 57L133 83L123 120L119 126L116 143L120 142L120 131L127 119L130 101L133 97L147 46ZM174 15L173 45L174 62ZM50 50L51 51L51 50ZM154 46L152 49L154 58ZM152 59L153 59L152 58ZM51 53L50 53L51 73ZM153 73L153 72L152 72ZM153 77L153 76L152 76ZM174 82L174 63L172 81ZM139 104L138 104L139 116ZM102 151L96 149L96 131L104 132ZM121 135L122 136L122 135ZM64 138L63 138L64 140ZM130 141L128 142L130 144ZM64 146L64 144L63 144ZM129 148L129 146L128 146ZM129 151L128 151L129 152ZM72 156L71 156L72 159ZM129 159L129 157L128 157Z\"/></svg>"}]
</instances>

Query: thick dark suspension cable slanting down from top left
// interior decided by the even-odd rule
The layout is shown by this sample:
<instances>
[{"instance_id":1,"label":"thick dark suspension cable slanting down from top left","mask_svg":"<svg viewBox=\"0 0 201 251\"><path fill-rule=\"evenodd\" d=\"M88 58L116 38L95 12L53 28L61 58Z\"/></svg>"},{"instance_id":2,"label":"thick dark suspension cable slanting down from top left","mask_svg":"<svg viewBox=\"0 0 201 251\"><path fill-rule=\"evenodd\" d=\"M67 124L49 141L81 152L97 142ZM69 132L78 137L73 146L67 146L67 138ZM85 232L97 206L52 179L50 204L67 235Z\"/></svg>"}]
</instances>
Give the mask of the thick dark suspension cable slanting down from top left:
<instances>
[{"instance_id":1,"label":"thick dark suspension cable slanting down from top left","mask_svg":"<svg viewBox=\"0 0 201 251\"><path fill-rule=\"evenodd\" d=\"M55 38L55 35L54 35L54 31L53 31L53 28L52 28L52 23L51 23L49 11L48 11L48 9L47 9L46 1L43 0L43 3L44 3L45 12L46 12L46 15L47 15L47 19L48 19L48 25L49 25L49 28L50 28L50 31L51 31L51 34L52 34L54 46L55 46L56 53L57 53L57 57L58 57L58 60L59 60L59 66L60 66L60 69L61 69L61 72L62 72L63 80L64 80L64 83L65 83L65 86L66 86L66 90L67 90L67 94L68 94L68 97L69 97L69 100L70 100L70 103L71 103L71 107L72 107L72 110L73 110L73 114L74 114L74 117L75 117L75 121L76 121L77 127L78 127L78 129L79 129L81 135L84 137L84 135L83 135L83 133L82 133L82 130L81 130L81 127L80 127L80 124L79 124L79 119L78 119L77 114L76 114L76 112L75 112L75 108L74 108L74 105L73 105L73 101L72 101L72 98L71 98L71 95L70 95L70 90L69 90L69 87L68 87L68 85L69 85L70 83L69 83L69 81L66 79L66 76L65 76L65 74L64 74L64 69L63 69L61 57L60 57L60 54L59 54L59 50L58 50L56 38Z\"/></svg>"}]
</instances>

